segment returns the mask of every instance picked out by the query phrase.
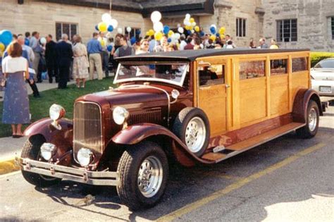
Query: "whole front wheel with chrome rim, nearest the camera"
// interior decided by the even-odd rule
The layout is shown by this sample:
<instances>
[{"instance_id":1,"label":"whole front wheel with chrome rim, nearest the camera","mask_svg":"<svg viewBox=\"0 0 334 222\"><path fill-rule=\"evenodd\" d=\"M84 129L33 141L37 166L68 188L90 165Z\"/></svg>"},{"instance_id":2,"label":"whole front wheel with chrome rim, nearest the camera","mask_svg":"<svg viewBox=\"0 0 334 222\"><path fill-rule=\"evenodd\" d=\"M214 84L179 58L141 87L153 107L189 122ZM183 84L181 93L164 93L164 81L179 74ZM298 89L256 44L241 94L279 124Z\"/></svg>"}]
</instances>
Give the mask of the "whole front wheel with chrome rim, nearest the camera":
<instances>
[{"instance_id":1,"label":"whole front wheel with chrome rim, nearest the camera","mask_svg":"<svg viewBox=\"0 0 334 222\"><path fill-rule=\"evenodd\" d=\"M168 161L155 142L141 142L125 150L118 164L120 200L130 209L154 206L166 188Z\"/></svg>"}]
</instances>

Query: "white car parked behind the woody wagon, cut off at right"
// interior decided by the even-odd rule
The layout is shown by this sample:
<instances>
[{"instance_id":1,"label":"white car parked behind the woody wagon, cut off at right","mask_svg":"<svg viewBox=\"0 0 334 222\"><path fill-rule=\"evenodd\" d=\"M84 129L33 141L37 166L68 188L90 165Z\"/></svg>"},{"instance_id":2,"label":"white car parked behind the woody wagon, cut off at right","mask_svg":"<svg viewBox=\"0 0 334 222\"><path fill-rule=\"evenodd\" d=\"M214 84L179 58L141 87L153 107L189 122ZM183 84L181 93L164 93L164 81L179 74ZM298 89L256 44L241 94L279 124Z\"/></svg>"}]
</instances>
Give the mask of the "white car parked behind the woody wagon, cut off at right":
<instances>
[{"instance_id":1,"label":"white car parked behind the woody wagon, cut off at right","mask_svg":"<svg viewBox=\"0 0 334 222\"><path fill-rule=\"evenodd\" d=\"M321 96L334 97L334 58L326 58L311 68L311 85Z\"/></svg>"}]
</instances>

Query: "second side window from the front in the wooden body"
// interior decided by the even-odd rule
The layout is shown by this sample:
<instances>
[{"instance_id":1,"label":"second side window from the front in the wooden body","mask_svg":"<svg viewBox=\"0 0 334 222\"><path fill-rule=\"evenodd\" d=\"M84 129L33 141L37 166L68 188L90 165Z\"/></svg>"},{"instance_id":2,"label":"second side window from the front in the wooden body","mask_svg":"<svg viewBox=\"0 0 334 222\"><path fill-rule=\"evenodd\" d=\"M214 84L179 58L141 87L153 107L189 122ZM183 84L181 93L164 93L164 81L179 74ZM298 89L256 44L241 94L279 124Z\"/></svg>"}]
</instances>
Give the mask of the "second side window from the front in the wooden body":
<instances>
[{"instance_id":1,"label":"second side window from the front in the wooden body","mask_svg":"<svg viewBox=\"0 0 334 222\"><path fill-rule=\"evenodd\" d=\"M264 76L266 76L266 61L240 61L240 80L247 80Z\"/></svg>"}]
</instances>

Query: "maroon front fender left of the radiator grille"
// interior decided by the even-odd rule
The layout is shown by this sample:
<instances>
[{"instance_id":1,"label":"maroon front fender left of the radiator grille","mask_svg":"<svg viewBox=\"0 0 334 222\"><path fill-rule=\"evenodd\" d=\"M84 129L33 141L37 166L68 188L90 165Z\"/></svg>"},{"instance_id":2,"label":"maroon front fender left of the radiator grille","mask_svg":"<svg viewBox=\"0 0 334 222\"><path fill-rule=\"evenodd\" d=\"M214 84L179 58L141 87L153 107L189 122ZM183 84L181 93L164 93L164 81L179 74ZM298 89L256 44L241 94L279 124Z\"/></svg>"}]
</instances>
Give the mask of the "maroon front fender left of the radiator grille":
<instances>
[{"instance_id":1,"label":"maroon front fender left of the radiator grille","mask_svg":"<svg viewBox=\"0 0 334 222\"><path fill-rule=\"evenodd\" d=\"M57 137L57 135L60 133L65 137L70 137L70 135L67 135L68 132L73 132L73 122L68 119L63 118L58 121L58 123L61 125L61 130L56 130L56 128L54 128L51 123L51 118L43 118L29 125L25 129L24 135L27 137L32 137L33 135L42 135L45 140L47 140L47 142L51 142L51 140Z\"/></svg>"}]
</instances>

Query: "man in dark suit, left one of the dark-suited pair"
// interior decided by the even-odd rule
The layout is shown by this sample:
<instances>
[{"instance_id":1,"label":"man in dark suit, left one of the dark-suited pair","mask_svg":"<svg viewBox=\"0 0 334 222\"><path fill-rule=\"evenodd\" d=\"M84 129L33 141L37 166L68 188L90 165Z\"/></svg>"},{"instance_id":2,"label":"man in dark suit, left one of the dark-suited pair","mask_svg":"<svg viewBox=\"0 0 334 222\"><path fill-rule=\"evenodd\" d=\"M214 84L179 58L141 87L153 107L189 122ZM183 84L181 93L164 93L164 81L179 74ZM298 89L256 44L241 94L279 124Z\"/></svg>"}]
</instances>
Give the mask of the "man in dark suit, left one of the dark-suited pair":
<instances>
[{"instance_id":1,"label":"man in dark suit, left one of the dark-suited pair","mask_svg":"<svg viewBox=\"0 0 334 222\"><path fill-rule=\"evenodd\" d=\"M52 35L47 36L47 46L45 49L45 60L47 61L47 73L49 75L49 82L52 83L53 79L56 78L58 82L58 66L56 60L56 42L52 40Z\"/></svg>"}]
</instances>

